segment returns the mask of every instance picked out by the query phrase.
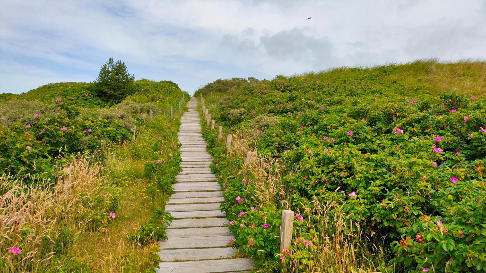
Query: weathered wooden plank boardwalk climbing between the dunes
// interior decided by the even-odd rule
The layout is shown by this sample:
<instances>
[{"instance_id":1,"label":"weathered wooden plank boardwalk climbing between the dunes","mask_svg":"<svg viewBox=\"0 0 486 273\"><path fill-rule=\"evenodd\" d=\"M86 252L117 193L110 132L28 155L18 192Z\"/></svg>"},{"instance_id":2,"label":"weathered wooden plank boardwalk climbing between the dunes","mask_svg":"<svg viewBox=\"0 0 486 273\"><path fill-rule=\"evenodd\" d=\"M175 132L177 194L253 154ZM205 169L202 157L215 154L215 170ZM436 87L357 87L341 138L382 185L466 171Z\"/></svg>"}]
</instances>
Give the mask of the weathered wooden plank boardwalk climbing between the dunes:
<instances>
[{"instance_id":1,"label":"weathered wooden plank boardwalk climbing between the dunes","mask_svg":"<svg viewBox=\"0 0 486 273\"><path fill-rule=\"evenodd\" d=\"M216 177L209 169L211 156L201 136L197 99L188 102L189 111L181 118L179 142L182 171L177 175L174 195L165 210L174 221L167 227L169 239L159 243L162 258L157 273L244 272L253 268L249 258L235 256L226 247L234 239L219 205L224 201Z\"/></svg>"}]
</instances>

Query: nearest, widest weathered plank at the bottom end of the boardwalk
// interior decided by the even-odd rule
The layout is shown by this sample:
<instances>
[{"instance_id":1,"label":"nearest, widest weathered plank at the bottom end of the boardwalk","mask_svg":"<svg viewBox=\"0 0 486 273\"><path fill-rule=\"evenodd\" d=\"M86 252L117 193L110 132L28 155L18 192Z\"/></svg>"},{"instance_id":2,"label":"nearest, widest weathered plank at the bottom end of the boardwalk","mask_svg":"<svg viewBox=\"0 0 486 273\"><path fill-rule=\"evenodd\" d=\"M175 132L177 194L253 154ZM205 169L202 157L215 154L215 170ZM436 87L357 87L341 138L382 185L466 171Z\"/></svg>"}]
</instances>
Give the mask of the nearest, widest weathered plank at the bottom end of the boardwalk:
<instances>
[{"instance_id":1,"label":"nearest, widest weathered plank at the bottom end of the boardwalk","mask_svg":"<svg viewBox=\"0 0 486 273\"><path fill-rule=\"evenodd\" d=\"M220 273L244 272L253 268L254 260L250 258L202 260L187 262L162 262L156 273Z\"/></svg>"}]
</instances>

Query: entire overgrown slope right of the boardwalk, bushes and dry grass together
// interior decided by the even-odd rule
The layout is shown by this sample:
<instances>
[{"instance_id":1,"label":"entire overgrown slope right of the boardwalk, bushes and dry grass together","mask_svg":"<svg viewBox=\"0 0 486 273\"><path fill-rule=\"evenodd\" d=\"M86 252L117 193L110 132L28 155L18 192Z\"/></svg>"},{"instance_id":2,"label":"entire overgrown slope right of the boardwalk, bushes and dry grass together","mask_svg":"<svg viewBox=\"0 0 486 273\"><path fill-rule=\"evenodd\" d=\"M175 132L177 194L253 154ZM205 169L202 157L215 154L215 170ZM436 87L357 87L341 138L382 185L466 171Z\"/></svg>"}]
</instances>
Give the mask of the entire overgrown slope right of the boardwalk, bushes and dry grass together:
<instances>
[{"instance_id":1,"label":"entire overgrown slope right of the boardwalk, bushes and dry grass together","mask_svg":"<svg viewBox=\"0 0 486 273\"><path fill-rule=\"evenodd\" d=\"M204 126L232 245L265 272L485 271L485 70L427 60L198 90L233 134L226 150ZM281 209L297 213L283 253Z\"/></svg>"}]
</instances>

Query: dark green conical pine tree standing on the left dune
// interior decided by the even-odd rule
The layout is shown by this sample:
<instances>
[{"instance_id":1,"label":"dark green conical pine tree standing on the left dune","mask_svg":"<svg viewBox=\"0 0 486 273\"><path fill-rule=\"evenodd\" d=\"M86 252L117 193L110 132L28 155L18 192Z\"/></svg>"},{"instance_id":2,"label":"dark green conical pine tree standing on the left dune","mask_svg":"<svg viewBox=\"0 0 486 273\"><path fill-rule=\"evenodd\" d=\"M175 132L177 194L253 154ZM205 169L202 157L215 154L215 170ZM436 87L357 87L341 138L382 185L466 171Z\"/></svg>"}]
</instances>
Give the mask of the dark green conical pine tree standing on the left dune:
<instances>
[{"instance_id":1,"label":"dark green conical pine tree standing on the left dune","mask_svg":"<svg viewBox=\"0 0 486 273\"><path fill-rule=\"evenodd\" d=\"M135 77L128 73L125 63L109 58L93 82L94 91L106 102L118 103L133 89Z\"/></svg>"}]
</instances>

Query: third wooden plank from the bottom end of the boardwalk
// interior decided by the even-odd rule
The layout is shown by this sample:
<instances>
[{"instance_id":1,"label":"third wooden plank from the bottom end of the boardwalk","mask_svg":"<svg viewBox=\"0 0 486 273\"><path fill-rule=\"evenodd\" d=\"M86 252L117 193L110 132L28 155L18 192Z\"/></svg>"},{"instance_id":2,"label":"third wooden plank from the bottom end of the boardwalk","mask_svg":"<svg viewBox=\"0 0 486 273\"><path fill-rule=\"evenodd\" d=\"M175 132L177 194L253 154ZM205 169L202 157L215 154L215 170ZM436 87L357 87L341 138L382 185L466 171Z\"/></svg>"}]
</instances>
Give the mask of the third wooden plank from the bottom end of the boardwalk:
<instances>
[{"instance_id":1,"label":"third wooden plank from the bottom end of the boardwalk","mask_svg":"<svg viewBox=\"0 0 486 273\"><path fill-rule=\"evenodd\" d=\"M186 249L186 248L202 248L202 247L226 247L229 240L235 239L230 236L208 236L204 237L186 237L184 239L167 239L159 243L160 249Z\"/></svg>"}]
</instances>

